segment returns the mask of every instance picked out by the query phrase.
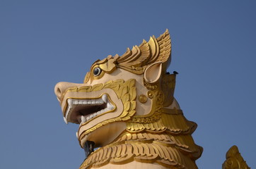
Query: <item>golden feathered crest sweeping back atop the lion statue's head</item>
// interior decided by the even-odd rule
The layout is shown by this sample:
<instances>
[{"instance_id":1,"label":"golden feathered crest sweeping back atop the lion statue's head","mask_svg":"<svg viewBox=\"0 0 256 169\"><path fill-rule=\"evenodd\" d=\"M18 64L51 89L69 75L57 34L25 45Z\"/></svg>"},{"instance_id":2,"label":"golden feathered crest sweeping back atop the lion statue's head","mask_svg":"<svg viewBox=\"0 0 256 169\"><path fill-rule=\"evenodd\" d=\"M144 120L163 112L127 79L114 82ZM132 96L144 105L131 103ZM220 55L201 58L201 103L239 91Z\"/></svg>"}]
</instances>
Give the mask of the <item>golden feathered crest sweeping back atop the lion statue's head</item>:
<instances>
[{"instance_id":1,"label":"golden feathered crest sweeping back atop the lion statue's head","mask_svg":"<svg viewBox=\"0 0 256 169\"><path fill-rule=\"evenodd\" d=\"M170 63L170 35L166 30L163 35L151 37L149 42L143 40L139 46L129 48L117 58L117 67L131 73L142 74L151 63L161 62L166 69Z\"/></svg>"}]
</instances>

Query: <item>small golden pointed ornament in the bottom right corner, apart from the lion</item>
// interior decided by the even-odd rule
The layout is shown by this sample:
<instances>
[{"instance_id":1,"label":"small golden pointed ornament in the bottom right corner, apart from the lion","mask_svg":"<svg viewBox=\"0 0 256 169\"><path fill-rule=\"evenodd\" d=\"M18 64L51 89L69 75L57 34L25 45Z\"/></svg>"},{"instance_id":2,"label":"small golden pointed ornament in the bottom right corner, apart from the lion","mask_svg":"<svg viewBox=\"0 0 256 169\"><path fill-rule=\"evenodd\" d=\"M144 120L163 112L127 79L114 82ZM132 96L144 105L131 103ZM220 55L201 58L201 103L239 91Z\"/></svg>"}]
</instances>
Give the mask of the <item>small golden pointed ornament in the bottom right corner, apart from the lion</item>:
<instances>
[{"instance_id":1,"label":"small golden pointed ornament in the bottom right corner, apart from the lion","mask_svg":"<svg viewBox=\"0 0 256 169\"><path fill-rule=\"evenodd\" d=\"M226 161L222 164L222 169L250 169L250 167L243 160L238 147L232 146L226 153Z\"/></svg>"}]
</instances>

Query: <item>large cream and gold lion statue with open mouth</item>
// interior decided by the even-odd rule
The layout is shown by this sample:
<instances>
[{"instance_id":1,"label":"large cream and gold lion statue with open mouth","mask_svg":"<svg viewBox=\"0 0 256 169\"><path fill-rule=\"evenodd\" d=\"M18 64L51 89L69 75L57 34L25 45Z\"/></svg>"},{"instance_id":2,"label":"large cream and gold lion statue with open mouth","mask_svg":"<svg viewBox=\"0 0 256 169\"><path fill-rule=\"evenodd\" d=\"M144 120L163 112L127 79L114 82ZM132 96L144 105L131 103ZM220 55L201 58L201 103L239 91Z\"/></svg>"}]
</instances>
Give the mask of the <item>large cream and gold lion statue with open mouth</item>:
<instances>
[{"instance_id":1,"label":"large cream and gold lion statue with open mouth","mask_svg":"<svg viewBox=\"0 0 256 169\"><path fill-rule=\"evenodd\" d=\"M56 85L64 121L79 124L87 155L80 169L197 168L203 149L192 138L197 124L173 97L170 52L166 30L122 56L95 61L83 84Z\"/></svg>"}]
</instances>

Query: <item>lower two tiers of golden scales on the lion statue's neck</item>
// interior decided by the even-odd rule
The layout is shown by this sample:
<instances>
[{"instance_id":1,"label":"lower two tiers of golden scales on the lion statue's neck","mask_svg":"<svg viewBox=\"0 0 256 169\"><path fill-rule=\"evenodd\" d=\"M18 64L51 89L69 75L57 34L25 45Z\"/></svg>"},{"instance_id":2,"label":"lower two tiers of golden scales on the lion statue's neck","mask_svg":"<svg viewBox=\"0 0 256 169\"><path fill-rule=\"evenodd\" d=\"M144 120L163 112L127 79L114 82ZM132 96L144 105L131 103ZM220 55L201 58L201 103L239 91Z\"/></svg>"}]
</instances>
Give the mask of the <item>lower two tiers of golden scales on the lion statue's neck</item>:
<instances>
[{"instance_id":1,"label":"lower two tiers of golden scales on the lion statue's neck","mask_svg":"<svg viewBox=\"0 0 256 169\"><path fill-rule=\"evenodd\" d=\"M190 140L189 137L187 139ZM131 161L158 163L168 168L197 169L194 161L186 156L188 154L193 158L197 156L198 146L194 144L187 146L186 142L181 140L181 137L164 133L124 132L112 144L101 147L88 156L80 169L98 168L107 163L125 164Z\"/></svg>"}]
</instances>

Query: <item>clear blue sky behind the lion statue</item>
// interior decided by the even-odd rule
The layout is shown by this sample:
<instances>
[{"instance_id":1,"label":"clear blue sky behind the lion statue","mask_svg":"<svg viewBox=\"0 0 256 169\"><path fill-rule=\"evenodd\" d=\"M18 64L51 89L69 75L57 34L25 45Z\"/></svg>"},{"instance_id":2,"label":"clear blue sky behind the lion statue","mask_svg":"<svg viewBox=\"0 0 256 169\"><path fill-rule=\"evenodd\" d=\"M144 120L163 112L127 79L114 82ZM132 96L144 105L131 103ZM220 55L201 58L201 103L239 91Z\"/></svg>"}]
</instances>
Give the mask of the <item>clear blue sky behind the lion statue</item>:
<instances>
[{"instance_id":1,"label":"clear blue sky behind the lion statue","mask_svg":"<svg viewBox=\"0 0 256 169\"><path fill-rule=\"evenodd\" d=\"M198 124L199 168L221 168L234 144L256 168L256 1L0 1L0 168L78 168L57 82L168 28L175 98Z\"/></svg>"}]
</instances>

